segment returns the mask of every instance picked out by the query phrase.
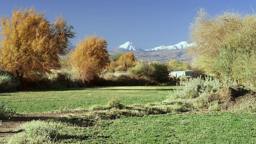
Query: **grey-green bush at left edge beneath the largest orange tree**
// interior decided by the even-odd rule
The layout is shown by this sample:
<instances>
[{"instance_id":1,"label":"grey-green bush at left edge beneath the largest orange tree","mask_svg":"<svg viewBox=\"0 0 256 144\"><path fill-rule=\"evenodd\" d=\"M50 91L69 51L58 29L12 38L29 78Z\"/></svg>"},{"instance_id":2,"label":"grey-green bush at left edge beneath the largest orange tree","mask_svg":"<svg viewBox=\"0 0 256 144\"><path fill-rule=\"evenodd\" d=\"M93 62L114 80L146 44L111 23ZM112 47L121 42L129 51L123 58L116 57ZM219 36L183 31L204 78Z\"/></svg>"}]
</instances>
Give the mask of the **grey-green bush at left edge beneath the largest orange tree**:
<instances>
[{"instance_id":1,"label":"grey-green bush at left edge beneath the largest orange tree","mask_svg":"<svg viewBox=\"0 0 256 144\"><path fill-rule=\"evenodd\" d=\"M0 92L15 91L16 87L20 84L18 78L10 75L9 73L2 72L0 69Z\"/></svg>"}]
</instances>

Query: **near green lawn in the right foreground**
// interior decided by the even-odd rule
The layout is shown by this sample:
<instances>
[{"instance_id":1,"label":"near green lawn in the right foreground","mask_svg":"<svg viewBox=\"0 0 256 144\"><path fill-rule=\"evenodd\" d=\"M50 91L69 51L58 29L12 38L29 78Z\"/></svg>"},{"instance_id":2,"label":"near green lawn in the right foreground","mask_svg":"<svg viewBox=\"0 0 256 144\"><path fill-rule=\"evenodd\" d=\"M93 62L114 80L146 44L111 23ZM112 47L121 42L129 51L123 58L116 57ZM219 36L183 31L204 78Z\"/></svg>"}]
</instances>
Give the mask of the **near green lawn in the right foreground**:
<instances>
[{"instance_id":1,"label":"near green lawn in the right foreground","mask_svg":"<svg viewBox=\"0 0 256 144\"><path fill-rule=\"evenodd\" d=\"M246 113L151 115L103 120L93 127L72 128L68 135L90 144L252 144L256 141L255 119L255 114Z\"/></svg>"}]
</instances>

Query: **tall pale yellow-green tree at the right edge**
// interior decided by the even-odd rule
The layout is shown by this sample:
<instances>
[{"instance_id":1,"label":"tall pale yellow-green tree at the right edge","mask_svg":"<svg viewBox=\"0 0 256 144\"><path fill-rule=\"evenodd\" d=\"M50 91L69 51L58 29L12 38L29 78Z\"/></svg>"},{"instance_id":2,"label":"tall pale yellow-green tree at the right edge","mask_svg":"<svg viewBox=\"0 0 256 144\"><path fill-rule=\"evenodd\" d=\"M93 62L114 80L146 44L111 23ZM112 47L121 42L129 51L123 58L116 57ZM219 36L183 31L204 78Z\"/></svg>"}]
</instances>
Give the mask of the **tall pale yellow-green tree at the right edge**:
<instances>
[{"instance_id":1,"label":"tall pale yellow-green tree at the right edge","mask_svg":"<svg viewBox=\"0 0 256 144\"><path fill-rule=\"evenodd\" d=\"M234 11L214 17L200 9L191 28L197 66L221 79L256 83L256 14Z\"/></svg>"}]
</instances>

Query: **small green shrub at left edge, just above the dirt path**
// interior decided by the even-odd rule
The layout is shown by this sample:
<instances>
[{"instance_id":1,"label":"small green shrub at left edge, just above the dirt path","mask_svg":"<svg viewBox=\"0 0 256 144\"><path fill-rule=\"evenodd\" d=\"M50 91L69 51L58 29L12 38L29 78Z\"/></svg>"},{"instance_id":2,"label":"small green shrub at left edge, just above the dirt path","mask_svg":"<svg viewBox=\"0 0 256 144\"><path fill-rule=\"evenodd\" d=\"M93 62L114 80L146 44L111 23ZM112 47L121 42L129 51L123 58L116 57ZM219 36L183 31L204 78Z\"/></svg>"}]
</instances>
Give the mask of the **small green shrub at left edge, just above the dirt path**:
<instances>
[{"instance_id":1,"label":"small green shrub at left edge, just above the dirt path","mask_svg":"<svg viewBox=\"0 0 256 144\"><path fill-rule=\"evenodd\" d=\"M8 107L9 106L7 102L0 102L0 119L1 120L8 119L14 116L14 114L16 114L15 110L12 110Z\"/></svg>"}]
</instances>

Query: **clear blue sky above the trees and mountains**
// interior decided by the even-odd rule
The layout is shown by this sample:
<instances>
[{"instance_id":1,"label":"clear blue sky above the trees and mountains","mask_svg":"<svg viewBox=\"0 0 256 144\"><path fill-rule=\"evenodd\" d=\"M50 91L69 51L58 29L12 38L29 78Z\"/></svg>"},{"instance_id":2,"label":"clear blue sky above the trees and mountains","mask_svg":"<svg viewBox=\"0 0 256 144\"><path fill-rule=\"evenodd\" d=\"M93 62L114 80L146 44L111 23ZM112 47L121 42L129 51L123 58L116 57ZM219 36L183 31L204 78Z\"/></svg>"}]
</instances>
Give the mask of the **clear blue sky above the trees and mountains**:
<instances>
[{"instance_id":1,"label":"clear blue sky above the trees and mountains","mask_svg":"<svg viewBox=\"0 0 256 144\"><path fill-rule=\"evenodd\" d=\"M0 16L10 16L15 6L34 6L50 22L62 14L76 32L72 45L96 34L112 50L127 41L142 49L188 41L199 8L212 16L228 9L252 14L256 0L2 0Z\"/></svg>"}]
</instances>

